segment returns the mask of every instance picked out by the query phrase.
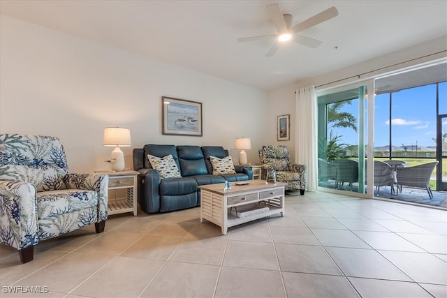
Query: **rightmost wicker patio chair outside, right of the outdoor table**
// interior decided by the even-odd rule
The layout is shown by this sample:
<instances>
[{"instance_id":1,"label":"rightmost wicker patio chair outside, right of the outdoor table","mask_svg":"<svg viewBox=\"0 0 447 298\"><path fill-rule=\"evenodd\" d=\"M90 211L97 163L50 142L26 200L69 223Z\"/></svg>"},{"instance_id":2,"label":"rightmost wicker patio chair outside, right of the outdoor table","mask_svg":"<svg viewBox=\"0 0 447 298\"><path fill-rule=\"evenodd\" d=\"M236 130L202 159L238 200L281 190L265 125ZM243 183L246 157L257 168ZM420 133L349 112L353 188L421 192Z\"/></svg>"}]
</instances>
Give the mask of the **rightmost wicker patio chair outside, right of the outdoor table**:
<instances>
[{"instance_id":1,"label":"rightmost wicker patio chair outside, right of the outdoor table","mask_svg":"<svg viewBox=\"0 0 447 298\"><path fill-rule=\"evenodd\" d=\"M433 198L432 190L430 189L430 177L434 167L439 161L432 163L424 163L423 165L415 165L413 167L397 167L397 184L402 193L402 186L425 188L430 199Z\"/></svg>"}]
</instances>

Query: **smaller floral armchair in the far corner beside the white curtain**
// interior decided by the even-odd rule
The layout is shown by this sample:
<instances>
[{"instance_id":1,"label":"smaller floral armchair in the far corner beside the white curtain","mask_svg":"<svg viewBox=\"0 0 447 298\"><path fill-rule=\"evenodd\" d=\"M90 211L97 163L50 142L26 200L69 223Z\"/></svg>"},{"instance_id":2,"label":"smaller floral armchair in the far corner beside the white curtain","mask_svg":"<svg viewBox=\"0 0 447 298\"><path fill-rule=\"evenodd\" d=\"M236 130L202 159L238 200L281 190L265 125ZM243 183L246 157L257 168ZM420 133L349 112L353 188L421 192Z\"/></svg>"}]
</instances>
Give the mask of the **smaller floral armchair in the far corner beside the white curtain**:
<instances>
[{"instance_id":1,"label":"smaller floral armchair in the far corner beside the white curtain","mask_svg":"<svg viewBox=\"0 0 447 298\"><path fill-rule=\"evenodd\" d=\"M265 180L267 170L275 170L277 181L285 182L286 191L300 190L305 194L306 188L306 165L291 163L287 147L284 145L267 145L259 149L259 162L262 165L262 179Z\"/></svg>"}]
</instances>

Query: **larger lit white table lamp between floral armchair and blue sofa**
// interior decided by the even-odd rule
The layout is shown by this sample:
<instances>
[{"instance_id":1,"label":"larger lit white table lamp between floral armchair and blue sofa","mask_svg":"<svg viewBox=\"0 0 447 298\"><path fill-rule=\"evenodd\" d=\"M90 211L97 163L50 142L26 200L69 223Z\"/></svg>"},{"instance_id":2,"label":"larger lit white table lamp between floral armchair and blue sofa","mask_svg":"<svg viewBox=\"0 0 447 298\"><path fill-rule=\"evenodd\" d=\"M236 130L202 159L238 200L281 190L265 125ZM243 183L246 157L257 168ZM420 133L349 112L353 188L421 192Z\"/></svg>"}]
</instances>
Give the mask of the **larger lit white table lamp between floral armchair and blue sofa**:
<instances>
[{"instance_id":1,"label":"larger lit white table lamp between floral armchair and blue sofa","mask_svg":"<svg viewBox=\"0 0 447 298\"><path fill-rule=\"evenodd\" d=\"M124 154L119 147L131 146L131 131L122 127L104 128L103 145L115 147L110 160L110 170L121 172L124 170Z\"/></svg>"}]
</instances>

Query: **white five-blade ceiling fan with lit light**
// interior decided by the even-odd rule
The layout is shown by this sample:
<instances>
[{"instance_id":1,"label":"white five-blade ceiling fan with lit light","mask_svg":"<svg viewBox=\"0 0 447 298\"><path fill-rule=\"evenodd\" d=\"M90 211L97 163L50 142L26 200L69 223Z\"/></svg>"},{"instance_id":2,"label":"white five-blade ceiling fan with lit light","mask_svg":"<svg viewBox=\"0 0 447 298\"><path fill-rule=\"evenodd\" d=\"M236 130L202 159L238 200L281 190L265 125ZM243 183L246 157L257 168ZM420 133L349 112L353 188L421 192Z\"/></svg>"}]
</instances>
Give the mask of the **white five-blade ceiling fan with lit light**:
<instances>
[{"instance_id":1,"label":"white five-blade ceiling fan with lit light","mask_svg":"<svg viewBox=\"0 0 447 298\"><path fill-rule=\"evenodd\" d=\"M332 19L338 15L338 10L334 6L328 8L309 19L296 24L291 27L292 15L283 15L281 13L281 8L279 4L271 4L267 6L268 15L278 29L277 34L262 35L262 36L251 36L244 38L237 38L237 41L251 41L260 40L265 38L277 38L270 50L265 54L265 57L272 57L279 49L281 43L285 43L288 40L293 40L295 43L300 43L306 45L307 47L318 47L321 44L321 40L316 40L314 38L309 38L306 36L298 35L301 31L314 27L322 22Z\"/></svg>"}]
</instances>

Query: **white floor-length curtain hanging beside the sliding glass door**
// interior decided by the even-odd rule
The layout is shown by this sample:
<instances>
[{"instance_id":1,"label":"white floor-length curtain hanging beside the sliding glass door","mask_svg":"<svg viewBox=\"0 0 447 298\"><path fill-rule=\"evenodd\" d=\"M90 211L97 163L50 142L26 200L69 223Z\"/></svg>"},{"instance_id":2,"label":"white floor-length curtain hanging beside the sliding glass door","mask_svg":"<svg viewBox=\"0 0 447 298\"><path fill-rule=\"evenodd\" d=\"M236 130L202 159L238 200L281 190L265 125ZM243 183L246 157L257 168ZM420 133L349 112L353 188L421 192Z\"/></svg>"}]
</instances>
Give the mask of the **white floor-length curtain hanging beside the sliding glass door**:
<instances>
[{"instance_id":1,"label":"white floor-length curtain hanging beside the sliding glass door","mask_svg":"<svg viewBox=\"0 0 447 298\"><path fill-rule=\"evenodd\" d=\"M307 165L307 191L318 188L318 131L314 86L296 91L295 163Z\"/></svg>"}]
</instances>

